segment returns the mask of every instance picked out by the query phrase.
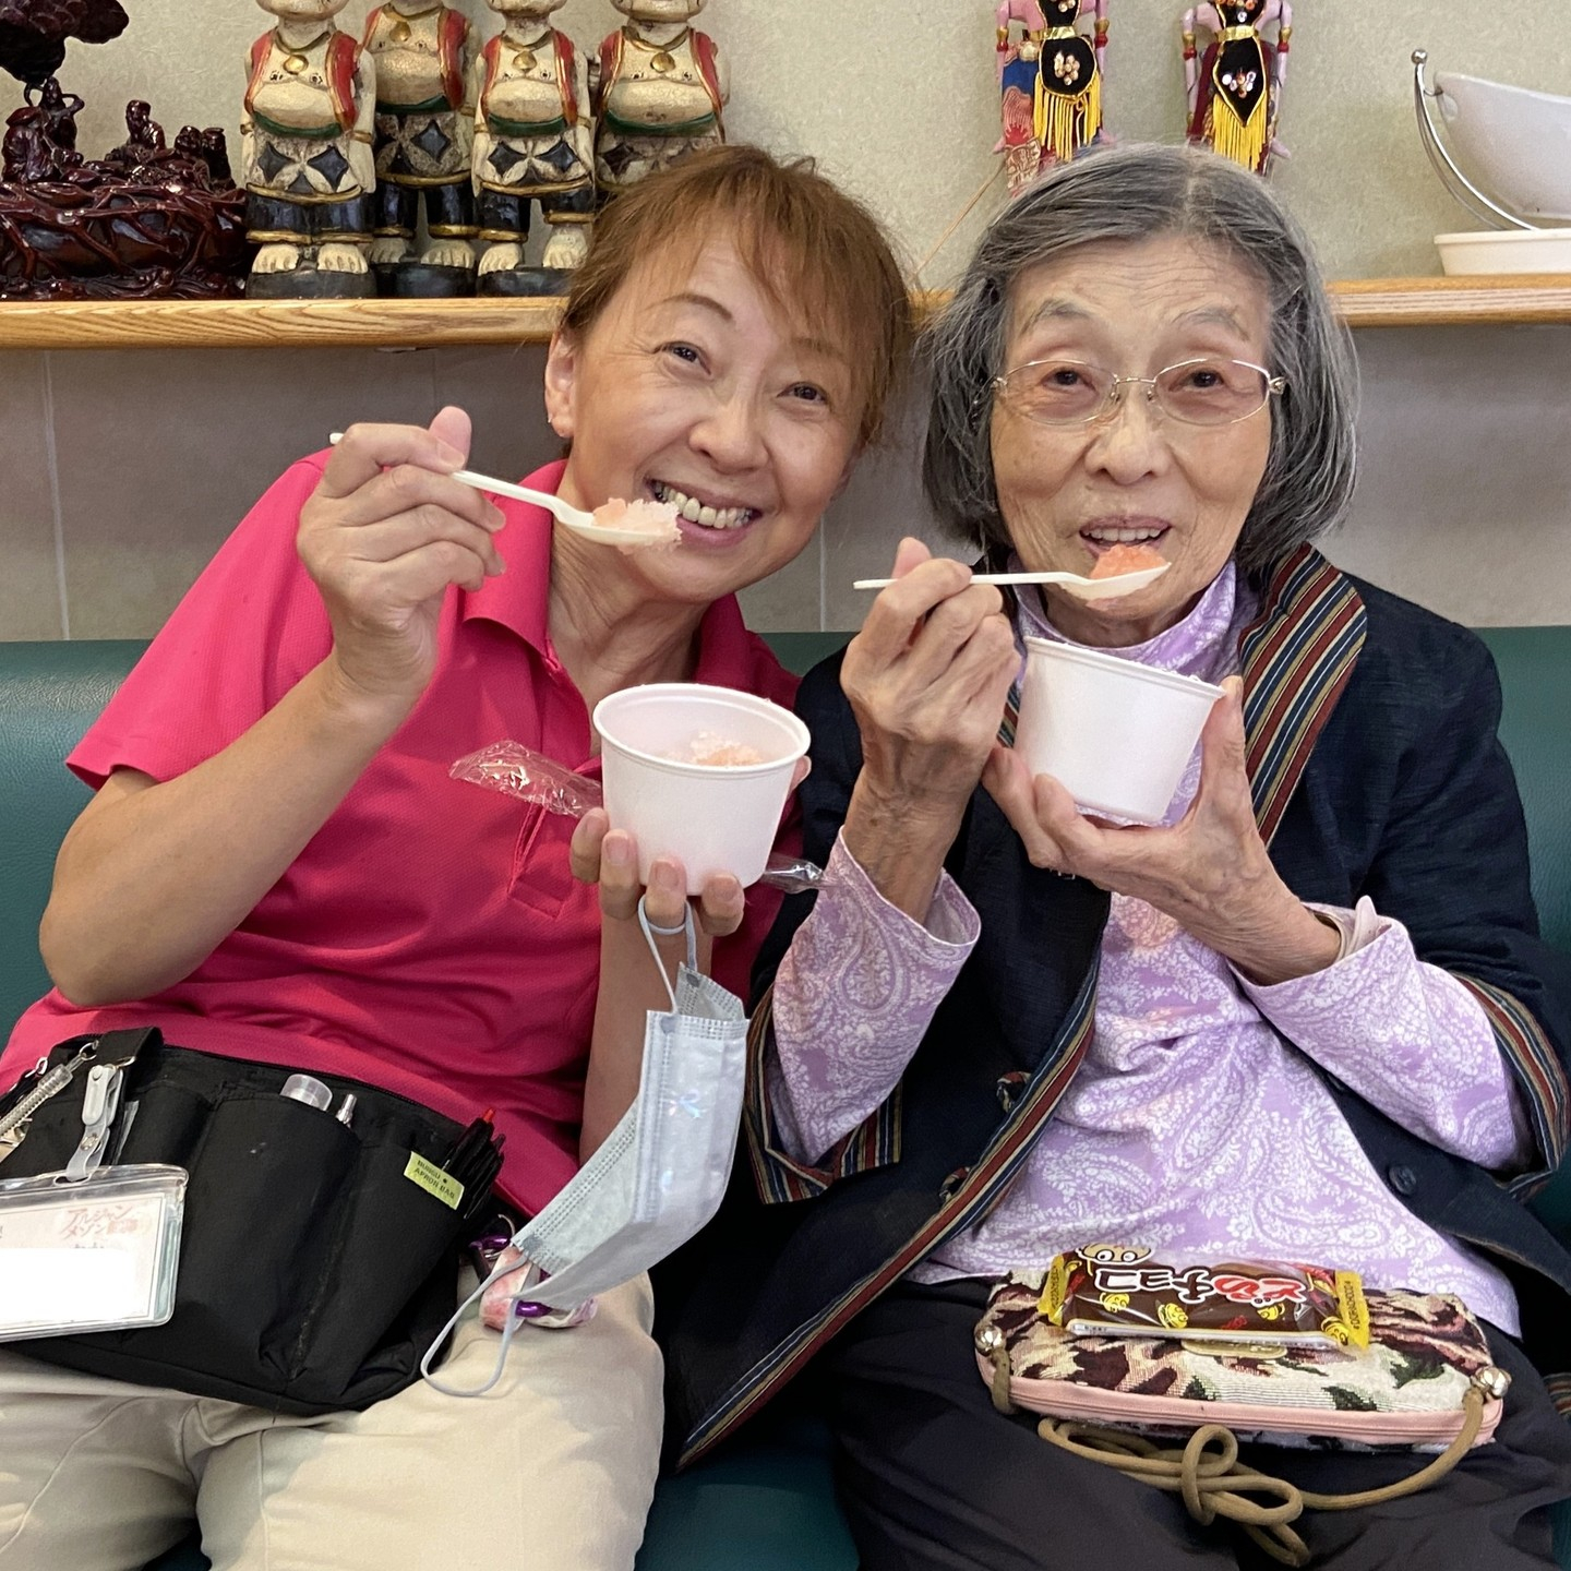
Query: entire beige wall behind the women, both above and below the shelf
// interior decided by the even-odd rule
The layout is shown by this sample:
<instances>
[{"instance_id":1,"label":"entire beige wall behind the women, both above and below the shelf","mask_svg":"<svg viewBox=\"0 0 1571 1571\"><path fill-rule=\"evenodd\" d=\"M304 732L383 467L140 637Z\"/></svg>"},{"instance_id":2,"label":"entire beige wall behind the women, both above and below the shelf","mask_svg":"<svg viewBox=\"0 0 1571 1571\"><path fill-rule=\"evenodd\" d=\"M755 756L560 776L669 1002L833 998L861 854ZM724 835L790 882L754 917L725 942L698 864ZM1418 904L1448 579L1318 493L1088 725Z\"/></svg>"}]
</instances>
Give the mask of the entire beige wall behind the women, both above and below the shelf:
<instances>
[{"instance_id":1,"label":"entire beige wall behind the women, both above and below the shelf","mask_svg":"<svg viewBox=\"0 0 1571 1571\"><path fill-rule=\"evenodd\" d=\"M358 28L371 0L350 0ZM454 0L495 28L484 0ZM66 83L88 101L80 141L123 135L127 97L170 132L223 124L234 141L248 0L138 0L127 33L72 44ZM1183 0L1112 0L1108 115L1123 140L1180 134ZM1327 273L1434 272L1430 237L1466 226L1412 127L1408 53L1442 69L1571 93L1565 0L1480 28L1433 0L1304 0L1279 189ZM569 0L558 25L592 46L608 0ZM812 152L921 259L996 170L991 0L710 0L702 25L734 77L731 134ZM0 115L19 88L0 80ZM1001 201L994 184L932 261L954 276ZM1472 622L1571 621L1571 330L1370 331L1364 489L1334 545L1348 566ZM294 456L352 418L470 405L476 463L523 471L551 451L540 350L0 353L0 638L146 635L247 504ZM913 423L908 421L908 437ZM914 440L914 438L913 438ZM925 533L911 452L869 459L818 545L751 592L762 627L845 627L847 586Z\"/></svg>"}]
</instances>

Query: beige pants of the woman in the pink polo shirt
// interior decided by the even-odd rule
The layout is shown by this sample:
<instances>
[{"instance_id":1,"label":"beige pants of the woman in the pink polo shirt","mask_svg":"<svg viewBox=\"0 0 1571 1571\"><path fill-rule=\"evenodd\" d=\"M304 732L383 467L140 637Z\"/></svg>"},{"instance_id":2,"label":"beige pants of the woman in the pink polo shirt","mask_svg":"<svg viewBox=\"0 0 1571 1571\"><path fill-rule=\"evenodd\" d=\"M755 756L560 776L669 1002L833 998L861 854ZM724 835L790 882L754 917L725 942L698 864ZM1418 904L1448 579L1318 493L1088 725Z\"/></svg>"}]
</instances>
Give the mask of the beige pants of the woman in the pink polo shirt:
<instances>
[{"instance_id":1,"label":"beige pants of the woman in the pink polo shirt","mask_svg":"<svg viewBox=\"0 0 1571 1571\"><path fill-rule=\"evenodd\" d=\"M200 1518L214 1571L627 1571L660 1448L647 1279L572 1331L520 1327L485 1395L423 1381L291 1419L0 1348L0 1571L137 1571ZM473 1316L441 1376L474 1387Z\"/></svg>"}]
</instances>

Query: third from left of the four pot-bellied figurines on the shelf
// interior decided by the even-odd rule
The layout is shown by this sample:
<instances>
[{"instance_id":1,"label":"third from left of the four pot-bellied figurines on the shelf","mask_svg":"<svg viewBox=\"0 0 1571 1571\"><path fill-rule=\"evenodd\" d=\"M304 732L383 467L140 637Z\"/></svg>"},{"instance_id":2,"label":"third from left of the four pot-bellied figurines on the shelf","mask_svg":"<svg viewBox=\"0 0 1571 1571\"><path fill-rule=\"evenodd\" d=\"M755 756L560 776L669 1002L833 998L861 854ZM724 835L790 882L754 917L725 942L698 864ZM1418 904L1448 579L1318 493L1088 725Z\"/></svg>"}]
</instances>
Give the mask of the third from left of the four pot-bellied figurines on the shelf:
<instances>
[{"instance_id":1,"label":"third from left of the four pot-bellied figurines on the shelf","mask_svg":"<svg viewBox=\"0 0 1571 1571\"><path fill-rule=\"evenodd\" d=\"M589 72L548 17L566 0L485 0L503 30L474 64L474 195L481 294L562 294L589 250L594 145ZM529 203L550 239L540 267L523 265Z\"/></svg>"}]
</instances>

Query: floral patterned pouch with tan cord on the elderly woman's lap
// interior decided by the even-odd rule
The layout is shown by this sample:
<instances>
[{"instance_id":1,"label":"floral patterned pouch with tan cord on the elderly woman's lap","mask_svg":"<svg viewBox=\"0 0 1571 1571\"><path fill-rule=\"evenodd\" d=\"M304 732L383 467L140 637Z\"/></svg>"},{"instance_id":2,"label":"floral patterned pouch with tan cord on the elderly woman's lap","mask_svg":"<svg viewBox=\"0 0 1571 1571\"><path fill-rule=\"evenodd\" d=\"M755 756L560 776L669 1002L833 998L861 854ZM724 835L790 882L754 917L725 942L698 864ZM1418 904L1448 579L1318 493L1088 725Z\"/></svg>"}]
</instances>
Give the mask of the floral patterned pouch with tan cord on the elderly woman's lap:
<instances>
[{"instance_id":1,"label":"floral patterned pouch with tan cord on the elderly woman's lap","mask_svg":"<svg viewBox=\"0 0 1571 1571\"><path fill-rule=\"evenodd\" d=\"M1499 1426L1510 1376L1491 1364L1461 1299L1368 1291L1367 1346L1076 1335L1043 1307L1049 1274L1010 1273L977 1323L977 1370L993 1404L1042 1414L1045 1441L1183 1494L1200 1522L1236 1521L1285 1565L1309 1563L1287 1525L1306 1507L1349 1510L1412 1494ZM1240 1466L1240 1442L1254 1441L1442 1455L1386 1489L1316 1496Z\"/></svg>"}]
</instances>

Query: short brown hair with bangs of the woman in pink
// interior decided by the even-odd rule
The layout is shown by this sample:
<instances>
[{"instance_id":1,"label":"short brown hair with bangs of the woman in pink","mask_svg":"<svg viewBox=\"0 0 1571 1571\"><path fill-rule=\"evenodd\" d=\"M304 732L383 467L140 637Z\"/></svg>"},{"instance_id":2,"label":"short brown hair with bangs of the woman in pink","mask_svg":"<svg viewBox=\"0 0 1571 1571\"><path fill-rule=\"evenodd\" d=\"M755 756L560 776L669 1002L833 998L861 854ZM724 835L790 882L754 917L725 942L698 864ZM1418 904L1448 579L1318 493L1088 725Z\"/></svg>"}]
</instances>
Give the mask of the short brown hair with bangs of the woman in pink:
<instances>
[{"instance_id":1,"label":"short brown hair with bangs of the woman in pink","mask_svg":"<svg viewBox=\"0 0 1571 1571\"><path fill-rule=\"evenodd\" d=\"M696 258L716 231L771 303L828 328L861 405L858 438L873 441L910 360L910 295L878 222L811 159L710 148L617 195L595 220L562 327L581 338L638 262L671 248Z\"/></svg>"}]
</instances>

